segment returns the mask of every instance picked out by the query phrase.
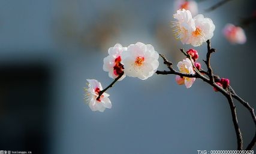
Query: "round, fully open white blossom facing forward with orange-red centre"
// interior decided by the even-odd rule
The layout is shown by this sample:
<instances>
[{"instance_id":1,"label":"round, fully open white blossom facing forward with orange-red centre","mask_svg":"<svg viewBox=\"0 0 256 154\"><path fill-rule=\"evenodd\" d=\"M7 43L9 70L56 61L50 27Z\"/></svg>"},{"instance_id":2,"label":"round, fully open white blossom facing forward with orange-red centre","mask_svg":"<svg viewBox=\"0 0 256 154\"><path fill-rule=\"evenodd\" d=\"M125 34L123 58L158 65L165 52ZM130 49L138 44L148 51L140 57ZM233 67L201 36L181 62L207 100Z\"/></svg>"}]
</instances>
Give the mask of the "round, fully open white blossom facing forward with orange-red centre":
<instances>
[{"instance_id":1,"label":"round, fully open white blossom facing forward with orange-red centre","mask_svg":"<svg viewBox=\"0 0 256 154\"><path fill-rule=\"evenodd\" d=\"M141 80L152 76L159 66L159 55L150 44L131 44L122 52L121 57L125 74Z\"/></svg>"}]
</instances>

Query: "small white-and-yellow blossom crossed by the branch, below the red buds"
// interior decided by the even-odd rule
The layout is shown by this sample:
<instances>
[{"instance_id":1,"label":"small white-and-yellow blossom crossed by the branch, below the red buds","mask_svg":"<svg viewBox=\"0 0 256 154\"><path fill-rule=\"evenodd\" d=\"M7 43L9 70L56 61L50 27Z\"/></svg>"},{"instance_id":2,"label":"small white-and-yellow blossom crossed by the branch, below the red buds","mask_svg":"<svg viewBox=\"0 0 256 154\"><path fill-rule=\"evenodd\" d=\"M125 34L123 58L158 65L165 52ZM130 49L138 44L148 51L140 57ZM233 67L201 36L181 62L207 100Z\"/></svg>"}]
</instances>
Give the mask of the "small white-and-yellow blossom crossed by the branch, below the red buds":
<instances>
[{"instance_id":1,"label":"small white-and-yellow blossom crossed by the branch, below the red buds","mask_svg":"<svg viewBox=\"0 0 256 154\"><path fill-rule=\"evenodd\" d=\"M195 71L193 69L192 63L189 60L189 58L186 58L183 61L179 61L179 63L177 64L177 67L179 68L181 73L192 74L192 75L195 74ZM186 88L190 88L195 81L195 78L188 78L185 76L183 76L183 78L185 79ZM176 81L177 81L177 78L176 78Z\"/></svg>"}]
</instances>

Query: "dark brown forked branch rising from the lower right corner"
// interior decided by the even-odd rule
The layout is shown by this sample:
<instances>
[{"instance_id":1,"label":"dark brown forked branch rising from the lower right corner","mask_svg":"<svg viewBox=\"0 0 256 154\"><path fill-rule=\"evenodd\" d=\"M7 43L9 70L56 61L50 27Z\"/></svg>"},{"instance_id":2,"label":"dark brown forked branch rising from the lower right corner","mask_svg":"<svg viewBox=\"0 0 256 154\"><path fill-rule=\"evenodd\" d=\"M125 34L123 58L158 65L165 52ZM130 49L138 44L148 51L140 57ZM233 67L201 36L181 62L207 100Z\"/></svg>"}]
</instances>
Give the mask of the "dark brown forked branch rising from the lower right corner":
<instances>
[{"instance_id":1,"label":"dark brown forked branch rising from the lower right corner","mask_svg":"<svg viewBox=\"0 0 256 154\"><path fill-rule=\"evenodd\" d=\"M182 51L182 53L185 54L185 56L191 60L191 56L188 56L188 54L186 54L183 49L181 49L180 51ZM174 74L174 75L186 76L188 78L200 78L204 82L207 82L208 84L215 87L216 90L218 90L220 93L222 93L227 98L228 103L230 105L234 130L236 132L236 138L237 138L237 150L242 150L243 149L243 138L242 138L242 133L239 128L237 115L236 115L236 106L234 106L233 98L235 98L236 100L239 100L239 102L242 103L243 106L245 106L250 111L252 119L254 119L254 124L256 126L256 117L255 117L254 109L251 106L249 106L249 103L247 103L246 101L242 100L242 98L237 96L231 87L228 87L227 90L225 90L224 88L220 87L219 85L217 85L215 83L215 81L219 80L219 76L214 75L212 73L212 68L210 67L210 56L213 52L215 52L215 49L210 48L210 40L207 40L207 55L206 55L206 60L204 60L204 62L206 63L206 66L207 66L207 72L203 69L197 70L194 75L177 72L176 70L173 69L172 63L170 61L168 61L163 55L160 55L164 60L164 64L167 65L167 67L170 69L170 71L157 70L156 73L162 74L162 75ZM193 67L194 67L194 65L193 65ZM209 76L209 79L206 78L206 76L204 76L204 75ZM249 143L248 147L246 147L246 150L251 150L252 147L255 145L255 142L256 142L256 131L255 131L254 138L252 139L251 143Z\"/></svg>"}]
</instances>

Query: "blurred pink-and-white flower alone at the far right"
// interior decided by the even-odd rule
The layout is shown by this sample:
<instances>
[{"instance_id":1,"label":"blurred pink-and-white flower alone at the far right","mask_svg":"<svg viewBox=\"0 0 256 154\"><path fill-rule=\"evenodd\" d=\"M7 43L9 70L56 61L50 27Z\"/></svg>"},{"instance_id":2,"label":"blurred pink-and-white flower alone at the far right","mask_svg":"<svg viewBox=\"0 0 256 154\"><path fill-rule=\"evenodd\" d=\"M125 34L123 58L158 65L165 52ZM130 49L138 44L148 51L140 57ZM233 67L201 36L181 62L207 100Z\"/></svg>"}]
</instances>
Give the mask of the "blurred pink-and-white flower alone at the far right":
<instances>
[{"instance_id":1,"label":"blurred pink-and-white flower alone at the far right","mask_svg":"<svg viewBox=\"0 0 256 154\"><path fill-rule=\"evenodd\" d=\"M231 44L244 44L246 42L245 32L241 27L226 24L222 32Z\"/></svg>"}]
</instances>

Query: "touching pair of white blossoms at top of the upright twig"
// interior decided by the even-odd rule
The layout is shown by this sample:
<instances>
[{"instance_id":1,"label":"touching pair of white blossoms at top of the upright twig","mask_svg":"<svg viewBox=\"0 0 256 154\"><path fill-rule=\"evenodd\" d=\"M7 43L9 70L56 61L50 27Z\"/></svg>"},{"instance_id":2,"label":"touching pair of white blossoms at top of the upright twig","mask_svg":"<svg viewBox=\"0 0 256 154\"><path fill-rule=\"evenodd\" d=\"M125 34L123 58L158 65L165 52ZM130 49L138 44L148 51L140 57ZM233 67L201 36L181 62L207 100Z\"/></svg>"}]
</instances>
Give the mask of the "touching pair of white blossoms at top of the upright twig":
<instances>
[{"instance_id":1,"label":"touching pair of white blossoms at top of the upright twig","mask_svg":"<svg viewBox=\"0 0 256 154\"><path fill-rule=\"evenodd\" d=\"M194 18L189 10L177 10L173 15L177 21L173 22L174 33L182 44L191 44L197 47L211 39L215 30L213 21L198 14Z\"/></svg>"}]
</instances>

